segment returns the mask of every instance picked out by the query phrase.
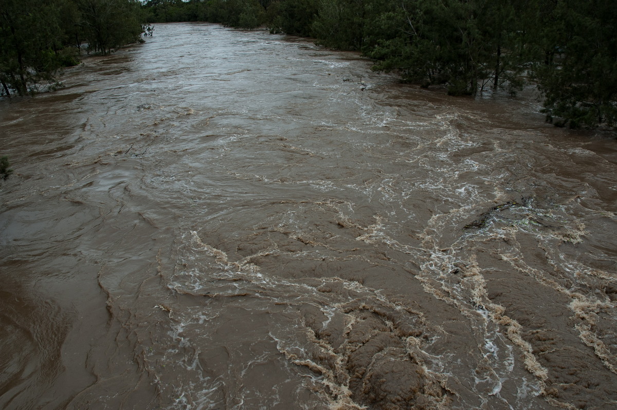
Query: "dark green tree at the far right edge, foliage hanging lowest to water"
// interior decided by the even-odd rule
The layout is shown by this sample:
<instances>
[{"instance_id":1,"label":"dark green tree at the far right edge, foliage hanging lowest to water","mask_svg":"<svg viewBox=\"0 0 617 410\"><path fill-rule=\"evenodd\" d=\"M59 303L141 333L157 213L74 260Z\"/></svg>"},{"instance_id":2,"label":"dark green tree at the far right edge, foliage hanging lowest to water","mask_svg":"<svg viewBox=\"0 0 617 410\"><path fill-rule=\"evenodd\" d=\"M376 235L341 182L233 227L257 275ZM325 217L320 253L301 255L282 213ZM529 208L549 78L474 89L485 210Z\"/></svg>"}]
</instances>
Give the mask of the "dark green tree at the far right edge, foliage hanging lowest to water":
<instances>
[{"instance_id":1,"label":"dark green tree at the far right edge, foliage hanging lowest to water","mask_svg":"<svg viewBox=\"0 0 617 410\"><path fill-rule=\"evenodd\" d=\"M617 125L615 4L558 0L550 6L550 14L539 14L545 59L534 67L547 120L570 128Z\"/></svg>"}]
</instances>

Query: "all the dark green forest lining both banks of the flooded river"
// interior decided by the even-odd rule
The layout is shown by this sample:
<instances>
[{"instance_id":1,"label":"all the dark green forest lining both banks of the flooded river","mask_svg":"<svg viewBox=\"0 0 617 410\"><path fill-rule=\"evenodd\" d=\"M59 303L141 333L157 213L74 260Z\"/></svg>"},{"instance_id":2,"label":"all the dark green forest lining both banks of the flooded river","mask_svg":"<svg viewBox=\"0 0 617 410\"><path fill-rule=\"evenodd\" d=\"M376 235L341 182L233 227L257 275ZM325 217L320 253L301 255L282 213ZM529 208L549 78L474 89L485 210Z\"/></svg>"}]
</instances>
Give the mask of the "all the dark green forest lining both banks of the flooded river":
<instances>
[{"instance_id":1,"label":"all the dark green forest lining both banks of the flooded river","mask_svg":"<svg viewBox=\"0 0 617 410\"><path fill-rule=\"evenodd\" d=\"M617 125L611 0L0 0L3 92L51 83L82 49L138 41L144 23L180 21L312 37L452 95L531 82L555 125Z\"/></svg>"}]
</instances>

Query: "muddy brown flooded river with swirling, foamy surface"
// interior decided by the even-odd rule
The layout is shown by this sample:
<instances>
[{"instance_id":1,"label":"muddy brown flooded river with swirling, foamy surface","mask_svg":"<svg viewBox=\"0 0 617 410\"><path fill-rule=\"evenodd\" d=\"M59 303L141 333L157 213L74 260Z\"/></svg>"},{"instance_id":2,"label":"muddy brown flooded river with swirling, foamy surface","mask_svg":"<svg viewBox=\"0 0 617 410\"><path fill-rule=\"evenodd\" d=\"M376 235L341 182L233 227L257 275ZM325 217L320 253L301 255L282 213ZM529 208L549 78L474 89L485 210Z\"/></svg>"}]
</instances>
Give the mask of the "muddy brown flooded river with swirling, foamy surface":
<instances>
[{"instance_id":1,"label":"muddy brown flooded river with swirling, foamy surface","mask_svg":"<svg viewBox=\"0 0 617 410\"><path fill-rule=\"evenodd\" d=\"M0 408L612 409L617 145L208 24L0 101Z\"/></svg>"}]
</instances>

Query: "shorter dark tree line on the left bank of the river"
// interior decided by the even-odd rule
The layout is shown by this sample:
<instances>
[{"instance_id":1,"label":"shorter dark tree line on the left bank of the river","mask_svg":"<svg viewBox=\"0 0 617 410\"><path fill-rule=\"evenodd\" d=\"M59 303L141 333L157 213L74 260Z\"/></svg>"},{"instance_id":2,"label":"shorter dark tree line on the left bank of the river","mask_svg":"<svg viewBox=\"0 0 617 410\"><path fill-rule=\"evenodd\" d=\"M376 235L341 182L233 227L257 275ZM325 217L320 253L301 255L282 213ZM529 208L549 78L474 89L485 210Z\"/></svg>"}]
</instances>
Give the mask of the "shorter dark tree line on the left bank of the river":
<instances>
[{"instance_id":1,"label":"shorter dark tree line on the left bank of the river","mask_svg":"<svg viewBox=\"0 0 617 410\"><path fill-rule=\"evenodd\" d=\"M55 83L86 52L139 41L138 0L0 0L0 92L25 95Z\"/></svg>"}]
</instances>

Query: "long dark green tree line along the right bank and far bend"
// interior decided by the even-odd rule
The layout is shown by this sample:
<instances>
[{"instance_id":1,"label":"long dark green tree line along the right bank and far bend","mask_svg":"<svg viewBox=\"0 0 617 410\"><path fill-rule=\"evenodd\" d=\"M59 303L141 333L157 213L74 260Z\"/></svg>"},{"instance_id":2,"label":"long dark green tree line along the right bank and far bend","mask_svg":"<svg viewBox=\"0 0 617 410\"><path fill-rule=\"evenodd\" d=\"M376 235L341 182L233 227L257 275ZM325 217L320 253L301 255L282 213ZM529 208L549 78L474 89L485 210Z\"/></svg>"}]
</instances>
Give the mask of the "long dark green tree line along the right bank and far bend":
<instances>
[{"instance_id":1,"label":"long dark green tree line along the right bank and far bend","mask_svg":"<svg viewBox=\"0 0 617 410\"><path fill-rule=\"evenodd\" d=\"M617 125L612 0L149 0L150 22L266 26L452 95L533 83L558 126Z\"/></svg>"}]
</instances>

